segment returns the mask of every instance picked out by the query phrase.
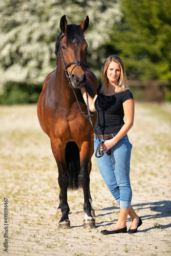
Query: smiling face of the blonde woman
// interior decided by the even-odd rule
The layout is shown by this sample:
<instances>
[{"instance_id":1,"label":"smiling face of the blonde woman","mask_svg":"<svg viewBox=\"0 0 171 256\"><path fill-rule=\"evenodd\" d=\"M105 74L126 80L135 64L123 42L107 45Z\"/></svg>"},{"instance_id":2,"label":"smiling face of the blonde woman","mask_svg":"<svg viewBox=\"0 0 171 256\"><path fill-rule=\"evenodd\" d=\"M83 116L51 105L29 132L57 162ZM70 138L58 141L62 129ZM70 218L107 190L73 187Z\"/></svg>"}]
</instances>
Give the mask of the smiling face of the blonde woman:
<instances>
[{"instance_id":1,"label":"smiling face of the blonde woman","mask_svg":"<svg viewBox=\"0 0 171 256\"><path fill-rule=\"evenodd\" d=\"M106 71L110 83L118 84L120 77L120 66L117 62L112 61Z\"/></svg>"}]
</instances>

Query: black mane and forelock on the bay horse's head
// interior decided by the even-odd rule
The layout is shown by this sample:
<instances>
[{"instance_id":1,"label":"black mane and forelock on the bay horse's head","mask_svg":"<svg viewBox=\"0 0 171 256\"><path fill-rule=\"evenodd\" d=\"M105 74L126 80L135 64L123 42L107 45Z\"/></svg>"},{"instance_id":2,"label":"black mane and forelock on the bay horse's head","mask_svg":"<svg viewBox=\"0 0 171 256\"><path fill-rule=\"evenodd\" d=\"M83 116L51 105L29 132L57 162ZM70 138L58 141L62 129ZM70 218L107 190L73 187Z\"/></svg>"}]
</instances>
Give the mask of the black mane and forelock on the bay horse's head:
<instances>
[{"instance_id":1,"label":"black mane and forelock on the bay horse's head","mask_svg":"<svg viewBox=\"0 0 171 256\"><path fill-rule=\"evenodd\" d=\"M58 35L57 40L56 40L56 45L55 45L56 65L57 65L57 55L58 55L61 35L62 35L62 31ZM67 26L65 35L67 35L67 44L72 44L73 41L74 41L74 43L79 44L79 42L81 43L84 41L82 29L80 28L80 26L75 25L75 24L69 24Z\"/></svg>"}]
</instances>

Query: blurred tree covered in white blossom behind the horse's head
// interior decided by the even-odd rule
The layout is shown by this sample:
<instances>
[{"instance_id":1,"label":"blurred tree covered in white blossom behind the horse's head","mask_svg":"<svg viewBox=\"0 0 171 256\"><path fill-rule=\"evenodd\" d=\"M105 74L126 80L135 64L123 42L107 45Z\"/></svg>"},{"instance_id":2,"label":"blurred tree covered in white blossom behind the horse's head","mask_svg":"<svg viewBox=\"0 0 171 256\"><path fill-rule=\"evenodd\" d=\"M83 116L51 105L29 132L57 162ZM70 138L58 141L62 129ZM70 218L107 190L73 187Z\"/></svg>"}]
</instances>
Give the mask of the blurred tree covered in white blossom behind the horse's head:
<instances>
[{"instance_id":1,"label":"blurred tree covered in white blossom behind the horse's head","mask_svg":"<svg viewBox=\"0 0 171 256\"><path fill-rule=\"evenodd\" d=\"M89 15L90 26L85 34L88 67L98 76L99 65L105 59L104 42L122 16L119 8L119 2L113 0L1 1L0 94L10 91L14 83L30 92L42 87L45 77L56 68L55 42L64 14L69 24L77 25Z\"/></svg>"}]
</instances>

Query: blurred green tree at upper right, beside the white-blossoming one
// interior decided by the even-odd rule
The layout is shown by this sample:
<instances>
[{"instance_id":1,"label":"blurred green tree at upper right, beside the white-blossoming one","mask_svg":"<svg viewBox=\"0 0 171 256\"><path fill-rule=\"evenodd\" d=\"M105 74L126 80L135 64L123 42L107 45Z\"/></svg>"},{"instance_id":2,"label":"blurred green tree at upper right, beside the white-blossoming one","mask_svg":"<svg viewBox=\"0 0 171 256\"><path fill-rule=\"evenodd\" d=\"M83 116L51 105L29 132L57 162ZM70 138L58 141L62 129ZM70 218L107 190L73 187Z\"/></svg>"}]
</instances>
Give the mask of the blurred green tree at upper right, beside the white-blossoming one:
<instances>
[{"instance_id":1,"label":"blurred green tree at upper right, beside the white-blossoming one","mask_svg":"<svg viewBox=\"0 0 171 256\"><path fill-rule=\"evenodd\" d=\"M130 80L171 80L170 9L169 0L122 0L106 48L123 59Z\"/></svg>"}]
</instances>

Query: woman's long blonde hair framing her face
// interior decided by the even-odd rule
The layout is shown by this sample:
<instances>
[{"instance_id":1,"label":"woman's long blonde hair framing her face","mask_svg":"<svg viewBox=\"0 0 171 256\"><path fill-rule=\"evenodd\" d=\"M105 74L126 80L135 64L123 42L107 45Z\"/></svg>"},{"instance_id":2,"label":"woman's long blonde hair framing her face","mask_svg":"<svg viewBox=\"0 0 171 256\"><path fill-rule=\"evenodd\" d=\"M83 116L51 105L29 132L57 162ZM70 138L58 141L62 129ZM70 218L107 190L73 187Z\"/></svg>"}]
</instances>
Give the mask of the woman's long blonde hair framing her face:
<instances>
[{"instance_id":1,"label":"woman's long blonde hair framing her face","mask_svg":"<svg viewBox=\"0 0 171 256\"><path fill-rule=\"evenodd\" d=\"M100 92L103 94L105 94L106 90L108 89L108 77L106 71L108 70L108 67L112 61L117 62L120 66L120 77L118 79L119 92L124 92L128 89L126 84L127 79L123 61L117 56L109 56L108 58L106 58L102 70L102 87Z\"/></svg>"}]
</instances>

